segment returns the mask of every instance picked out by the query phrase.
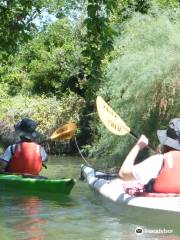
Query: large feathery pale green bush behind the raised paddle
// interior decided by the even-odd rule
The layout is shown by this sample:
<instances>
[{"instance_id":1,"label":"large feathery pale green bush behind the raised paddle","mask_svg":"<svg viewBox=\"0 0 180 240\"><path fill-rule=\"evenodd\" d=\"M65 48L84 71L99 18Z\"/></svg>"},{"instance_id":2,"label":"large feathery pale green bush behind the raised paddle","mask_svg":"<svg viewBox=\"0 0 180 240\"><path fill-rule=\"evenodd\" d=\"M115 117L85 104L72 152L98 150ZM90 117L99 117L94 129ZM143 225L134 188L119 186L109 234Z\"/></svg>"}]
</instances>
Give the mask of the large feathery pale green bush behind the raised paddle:
<instances>
[{"instance_id":1,"label":"large feathery pale green bush behind the raised paddle","mask_svg":"<svg viewBox=\"0 0 180 240\"><path fill-rule=\"evenodd\" d=\"M135 14L116 39L117 58L99 91L132 130L154 144L156 130L180 115L179 16L177 9ZM132 146L129 136L114 136L103 126L99 134L96 153L122 157Z\"/></svg>"}]
</instances>

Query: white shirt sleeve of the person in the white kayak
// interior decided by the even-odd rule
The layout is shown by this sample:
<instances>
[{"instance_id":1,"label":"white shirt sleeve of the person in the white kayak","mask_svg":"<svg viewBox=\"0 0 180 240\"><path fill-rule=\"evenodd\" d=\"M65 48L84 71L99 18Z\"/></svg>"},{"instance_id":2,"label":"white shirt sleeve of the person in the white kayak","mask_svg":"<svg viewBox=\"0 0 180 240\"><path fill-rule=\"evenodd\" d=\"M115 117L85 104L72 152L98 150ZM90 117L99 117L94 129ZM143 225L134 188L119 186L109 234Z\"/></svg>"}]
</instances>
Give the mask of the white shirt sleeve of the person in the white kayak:
<instances>
[{"instance_id":1,"label":"white shirt sleeve of the person in the white kayak","mask_svg":"<svg viewBox=\"0 0 180 240\"><path fill-rule=\"evenodd\" d=\"M132 174L138 182L147 184L149 180L158 176L162 164L163 154L156 154L134 165Z\"/></svg>"}]
</instances>

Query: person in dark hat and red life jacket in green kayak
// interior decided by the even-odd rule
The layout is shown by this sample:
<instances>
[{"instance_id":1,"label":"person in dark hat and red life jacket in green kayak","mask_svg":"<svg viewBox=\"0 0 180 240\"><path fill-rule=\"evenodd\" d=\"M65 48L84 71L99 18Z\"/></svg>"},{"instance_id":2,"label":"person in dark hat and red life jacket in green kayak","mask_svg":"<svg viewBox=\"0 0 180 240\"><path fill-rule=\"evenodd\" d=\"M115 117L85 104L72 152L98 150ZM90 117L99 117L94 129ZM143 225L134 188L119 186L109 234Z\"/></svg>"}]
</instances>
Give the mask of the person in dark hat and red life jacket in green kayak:
<instances>
[{"instance_id":1,"label":"person in dark hat and red life jacket in green kayak","mask_svg":"<svg viewBox=\"0 0 180 240\"><path fill-rule=\"evenodd\" d=\"M24 118L14 125L15 133L20 141L10 145L0 159L0 170L20 174L37 176L42 169L42 163L48 156L44 148L39 145L40 133L36 131L37 123Z\"/></svg>"}]
</instances>

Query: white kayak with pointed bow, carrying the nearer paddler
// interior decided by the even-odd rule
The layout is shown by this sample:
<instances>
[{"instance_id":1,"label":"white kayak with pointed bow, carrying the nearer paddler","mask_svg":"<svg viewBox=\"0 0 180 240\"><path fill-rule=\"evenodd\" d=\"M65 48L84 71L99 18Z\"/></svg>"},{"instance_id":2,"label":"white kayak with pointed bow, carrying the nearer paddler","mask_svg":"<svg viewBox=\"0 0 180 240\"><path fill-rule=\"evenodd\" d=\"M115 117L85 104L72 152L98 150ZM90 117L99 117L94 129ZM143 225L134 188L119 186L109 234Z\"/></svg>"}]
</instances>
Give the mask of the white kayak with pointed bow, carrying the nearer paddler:
<instances>
[{"instance_id":1,"label":"white kayak with pointed bow, carrying the nearer paddler","mask_svg":"<svg viewBox=\"0 0 180 240\"><path fill-rule=\"evenodd\" d=\"M125 192L120 178L108 179L107 174L96 172L89 166L81 166L81 174L94 192L104 200L114 203L116 206L131 206L141 209L159 210L173 213L180 218L180 195L176 196L132 196ZM103 177L104 176L104 177ZM117 208L116 208L117 210ZM122 208L121 208L122 210ZM131 208L132 211L132 208ZM132 212L131 212L132 213Z\"/></svg>"}]
</instances>

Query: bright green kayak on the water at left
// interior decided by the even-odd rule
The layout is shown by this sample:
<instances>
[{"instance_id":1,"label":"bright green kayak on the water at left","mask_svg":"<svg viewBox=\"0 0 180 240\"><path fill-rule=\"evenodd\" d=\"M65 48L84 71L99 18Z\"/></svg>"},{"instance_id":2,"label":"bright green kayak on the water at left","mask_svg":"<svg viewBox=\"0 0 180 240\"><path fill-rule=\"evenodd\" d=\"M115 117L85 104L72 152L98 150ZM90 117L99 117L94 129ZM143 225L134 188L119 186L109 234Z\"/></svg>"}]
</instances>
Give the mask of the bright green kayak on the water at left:
<instances>
[{"instance_id":1,"label":"bright green kayak on the water at left","mask_svg":"<svg viewBox=\"0 0 180 240\"><path fill-rule=\"evenodd\" d=\"M16 190L23 192L70 194L76 181L73 178L48 179L28 175L0 174L0 191Z\"/></svg>"}]
</instances>

